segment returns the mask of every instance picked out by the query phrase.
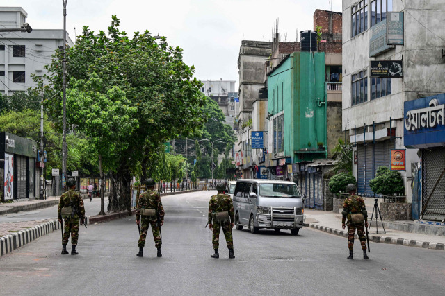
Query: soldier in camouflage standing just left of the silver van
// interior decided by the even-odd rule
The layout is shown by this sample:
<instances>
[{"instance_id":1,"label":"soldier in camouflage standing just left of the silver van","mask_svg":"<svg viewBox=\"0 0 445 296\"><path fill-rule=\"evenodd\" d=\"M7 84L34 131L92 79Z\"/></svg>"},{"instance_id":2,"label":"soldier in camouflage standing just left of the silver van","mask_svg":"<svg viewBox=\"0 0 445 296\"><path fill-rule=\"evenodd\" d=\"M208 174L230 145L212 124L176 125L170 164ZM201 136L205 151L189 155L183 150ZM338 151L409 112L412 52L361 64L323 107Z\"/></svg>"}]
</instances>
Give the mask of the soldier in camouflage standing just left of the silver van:
<instances>
[{"instance_id":1,"label":"soldier in camouflage standing just left of the silver van","mask_svg":"<svg viewBox=\"0 0 445 296\"><path fill-rule=\"evenodd\" d=\"M213 232L212 243L215 254L211 255L212 258L219 258L218 253L220 229L223 228L225 241L229 248L229 258L235 258L234 256L234 240L232 238L232 228L234 227L234 205L229 195L225 194L225 184L218 183L216 185L218 190L217 195L213 195L209 202L209 228ZM226 214L227 213L227 214ZM216 214L224 214L224 220L217 217ZM213 222L213 223L212 223Z\"/></svg>"}]
</instances>

